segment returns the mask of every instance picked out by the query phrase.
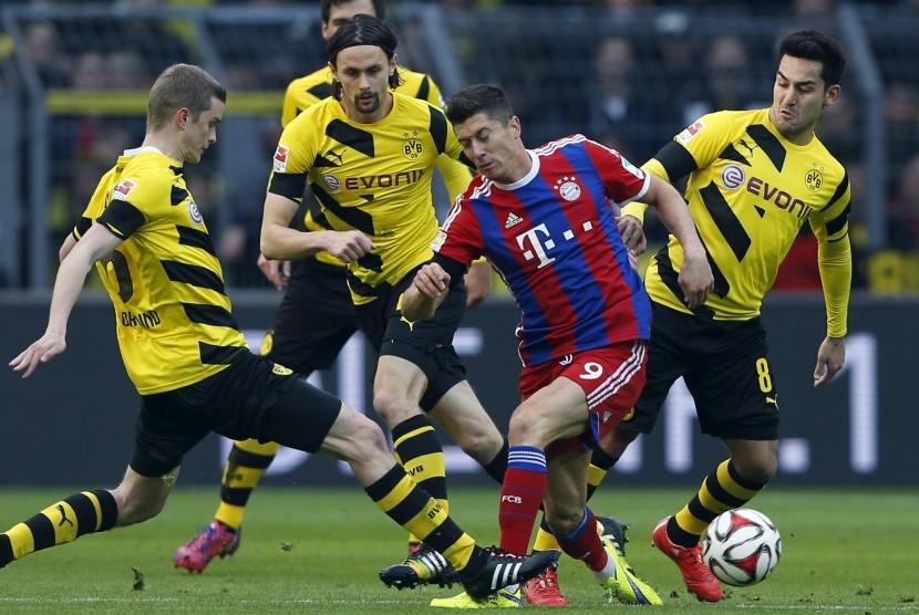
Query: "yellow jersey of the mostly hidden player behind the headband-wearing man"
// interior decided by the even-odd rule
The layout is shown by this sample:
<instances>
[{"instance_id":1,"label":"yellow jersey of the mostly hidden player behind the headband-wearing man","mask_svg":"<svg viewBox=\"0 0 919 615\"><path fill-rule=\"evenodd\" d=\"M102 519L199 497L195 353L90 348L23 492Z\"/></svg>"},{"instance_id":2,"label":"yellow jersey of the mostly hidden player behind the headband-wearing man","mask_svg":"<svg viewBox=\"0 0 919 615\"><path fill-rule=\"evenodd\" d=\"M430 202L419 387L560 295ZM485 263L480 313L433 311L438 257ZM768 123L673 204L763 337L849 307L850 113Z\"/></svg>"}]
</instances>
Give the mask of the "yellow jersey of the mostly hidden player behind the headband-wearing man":
<instances>
[{"instance_id":1,"label":"yellow jersey of the mostly hidden player behind the headband-wearing man","mask_svg":"<svg viewBox=\"0 0 919 615\"><path fill-rule=\"evenodd\" d=\"M401 83L394 92L419 98L420 101L427 101L432 105L443 108L444 98L441 94L441 88L430 75L399 66L399 76L401 77ZM304 110L331 95L332 71L329 70L329 66L323 66L308 75L295 79L288 84L287 91L285 92L281 126L286 127ZM452 158L442 156L437 160L437 169L444 178L447 192L451 197L461 195L473 178L473 174L468 167ZM306 207L307 212L303 217L303 222L307 230L331 228L326 221L326 216L322 213L319 204L314 199L307 199ZM330 256L328 252L317 252L314 258L328 264L344 265L343 262Z\"/></svg>"}]
</instances>

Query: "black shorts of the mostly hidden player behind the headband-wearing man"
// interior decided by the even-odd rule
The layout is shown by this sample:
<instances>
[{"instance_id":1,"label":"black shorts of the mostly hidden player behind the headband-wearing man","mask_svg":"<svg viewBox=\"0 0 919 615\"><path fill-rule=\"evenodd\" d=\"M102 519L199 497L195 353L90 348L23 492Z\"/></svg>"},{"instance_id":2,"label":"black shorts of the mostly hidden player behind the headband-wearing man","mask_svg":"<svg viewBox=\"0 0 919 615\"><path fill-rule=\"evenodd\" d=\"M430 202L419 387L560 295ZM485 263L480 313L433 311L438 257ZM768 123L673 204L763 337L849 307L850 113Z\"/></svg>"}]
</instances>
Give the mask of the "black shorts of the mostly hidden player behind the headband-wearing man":
<instances>
[{"instance_id":1,"label":"black shorts of the mostly hidden player behind the headband-wearing man","mask_svg":"<svg viewBox=\"0 0 919 615\"><path fill-rule=\"evenodd\" d=\"M359 324L344 270L304 259L295 263L260 353L309 376L334 364Z\"/></svg>"}]
</instances>

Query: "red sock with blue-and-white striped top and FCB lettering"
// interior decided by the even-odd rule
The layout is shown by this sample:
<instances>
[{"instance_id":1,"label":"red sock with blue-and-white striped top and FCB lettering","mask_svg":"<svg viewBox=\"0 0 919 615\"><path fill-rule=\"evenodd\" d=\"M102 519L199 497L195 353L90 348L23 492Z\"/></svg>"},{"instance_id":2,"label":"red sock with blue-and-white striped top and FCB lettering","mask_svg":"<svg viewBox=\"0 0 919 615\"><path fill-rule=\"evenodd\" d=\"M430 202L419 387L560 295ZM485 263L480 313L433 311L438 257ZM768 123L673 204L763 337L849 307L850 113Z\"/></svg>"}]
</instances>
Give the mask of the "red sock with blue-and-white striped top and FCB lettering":
<instances>
[{"instance_id":1,"label":"red sock with blue-and-white striped top and FCB lettering","mask_svg":"<svg viewBox=\"0 0 919 615\"><path fill-rule=\"evenodd\" d=\"M526 555L545 493L545 451L529 446L510 447L498 507L502 549Z\"/></svg>"}]
</instances>

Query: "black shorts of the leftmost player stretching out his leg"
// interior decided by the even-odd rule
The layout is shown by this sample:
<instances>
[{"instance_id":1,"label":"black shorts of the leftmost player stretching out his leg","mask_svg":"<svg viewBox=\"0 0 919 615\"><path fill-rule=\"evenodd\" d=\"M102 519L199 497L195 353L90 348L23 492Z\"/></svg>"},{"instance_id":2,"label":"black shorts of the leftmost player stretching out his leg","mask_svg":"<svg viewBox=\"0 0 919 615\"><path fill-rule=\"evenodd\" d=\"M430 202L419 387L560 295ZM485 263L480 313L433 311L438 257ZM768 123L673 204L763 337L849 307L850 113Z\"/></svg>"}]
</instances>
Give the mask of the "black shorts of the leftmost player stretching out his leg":
<instances>
[{"instance_id":1,"label":"black shorts of the leftmost player stretching out his leg","mask_svg":"<svg viewBox=\"0 0 919 615\"><path fill-rule=\"evenodd\" d=\"M316 452L340 410L337 397L241 348L223 372L141 397L131 468L162 476L210 431Z\"/></svg>"}]
</instances>

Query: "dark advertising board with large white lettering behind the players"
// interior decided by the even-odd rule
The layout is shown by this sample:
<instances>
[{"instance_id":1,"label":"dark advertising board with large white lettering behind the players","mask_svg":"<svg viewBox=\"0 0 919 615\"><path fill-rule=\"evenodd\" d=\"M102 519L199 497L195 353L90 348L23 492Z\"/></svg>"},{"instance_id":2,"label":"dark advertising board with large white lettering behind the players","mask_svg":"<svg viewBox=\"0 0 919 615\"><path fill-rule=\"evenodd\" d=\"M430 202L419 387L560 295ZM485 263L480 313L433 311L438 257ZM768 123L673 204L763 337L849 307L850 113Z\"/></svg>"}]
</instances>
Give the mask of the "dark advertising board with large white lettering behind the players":
<instances>
[{"instance_id":1,"label":"dark advertising board with large white lettering behind the players","mask_svg":"<svg viewBox=\"0 0 919 615\"><path fill-rule=\"evenodd\" d=\"M235 313L257 347L275 302L245 294ZM0 300L0 352L12 357L43 330L47 298ZM919 347L919 302L857 299L846 344L845 372L813 388L817 345L824 335L819 300L772 299L764 309L772 373L782 413L776 484L917 486L915 434L919 431L911 366ZM882 317L878 314L882 313ZM140 403L121 364L107 299L82 301L66 353L21 381L0 371L0 486L115 484L127 465ZM513 337L517 310L488 302L466 314L456 336L469 383L504 428L517 396L519 359ZM314 382L357 408L369 409L372 358L361 337L335 367ZM698 432L694 407L680 383L671 390L654 432L639 439L616 467L621 484L695 483L723 458L722 445ZM442 434L442 436L444 436ZM450 442L444 436L444 442ZM185 460L183 484L216 484L226 442L208 437ZM491 482L455 446L447 447L451 483ZM268 481L276 484L349 484L343 465L283 451Z\"/></svg>"}]
</instances>

